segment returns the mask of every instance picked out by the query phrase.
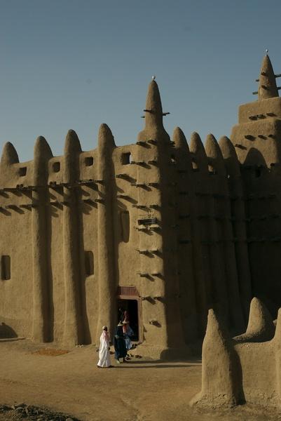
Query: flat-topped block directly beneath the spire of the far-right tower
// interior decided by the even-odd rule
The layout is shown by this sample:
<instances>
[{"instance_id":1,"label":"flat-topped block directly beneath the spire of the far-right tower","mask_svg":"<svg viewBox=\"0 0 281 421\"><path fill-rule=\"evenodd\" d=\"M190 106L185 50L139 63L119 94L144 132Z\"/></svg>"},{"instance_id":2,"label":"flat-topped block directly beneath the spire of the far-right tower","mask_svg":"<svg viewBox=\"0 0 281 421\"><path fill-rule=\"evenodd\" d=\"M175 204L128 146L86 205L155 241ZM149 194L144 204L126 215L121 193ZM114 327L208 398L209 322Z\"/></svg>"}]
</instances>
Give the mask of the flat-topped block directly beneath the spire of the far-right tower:
<instances>
[{"instance_id":1,"label":"flat-topped block directly beneath the spire of the far-right tower","mask_svg":"<svg viewBox=\"0 0 281 421\"><path fill-rule=\"evenodd\" d=\"M281 119L281 98L268 98L247 102L239 107L238 123L263 121L264 119Z\"/></svg>"}]
</instances>

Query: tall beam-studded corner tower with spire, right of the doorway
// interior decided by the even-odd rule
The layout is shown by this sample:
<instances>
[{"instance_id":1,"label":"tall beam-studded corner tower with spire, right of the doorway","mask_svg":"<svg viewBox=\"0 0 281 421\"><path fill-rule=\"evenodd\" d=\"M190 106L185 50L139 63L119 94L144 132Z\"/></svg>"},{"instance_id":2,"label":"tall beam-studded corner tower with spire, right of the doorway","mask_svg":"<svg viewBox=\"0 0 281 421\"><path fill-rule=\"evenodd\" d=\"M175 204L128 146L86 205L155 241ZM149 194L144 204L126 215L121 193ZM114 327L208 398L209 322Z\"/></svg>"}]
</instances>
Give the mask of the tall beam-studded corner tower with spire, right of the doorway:
<instances>
[{"instance_id":1,"label":"tall beam-studded corner tower with spire, right of the doorway","mask_svg":"<svg viewBox=\"0 0 281 421\"><path fill-rule=\"evenodd\" d=\"M160 93L156 81L149 84L144 109L144 130L137 139L139 274L142 276L144 346L163 349L161 357L184 349L179 311L177 232L175 230L173 154L163 127ZM146 221L145 221L146 220ZM147 220L151 224L147 225ZM142 227L142 221L146 223ZM144 229L142 229L144 228ZM185 351L186 352L186 351Z\"/></svg>"}]
</instances>

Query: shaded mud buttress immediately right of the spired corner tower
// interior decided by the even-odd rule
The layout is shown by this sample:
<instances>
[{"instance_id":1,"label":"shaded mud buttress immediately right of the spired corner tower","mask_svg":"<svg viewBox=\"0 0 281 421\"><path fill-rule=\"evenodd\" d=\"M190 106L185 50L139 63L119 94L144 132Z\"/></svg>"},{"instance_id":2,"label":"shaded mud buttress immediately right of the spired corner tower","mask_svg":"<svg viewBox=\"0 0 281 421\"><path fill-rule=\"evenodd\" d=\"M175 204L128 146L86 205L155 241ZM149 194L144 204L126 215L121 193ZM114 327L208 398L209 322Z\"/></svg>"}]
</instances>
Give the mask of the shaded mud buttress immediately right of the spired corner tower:
<instances>
[{"instance_id":1,"label":"shaded mud buttress immediately right of the spired corner tower","mask_svg":"<svg viewBox=\"0 0 281 421\"><path fill-rule=\"evenodd\" d=\"M193 217L194 217L194 187L191 180L191 156L189 145L184 133L179 127L174 129L172 140L174 141L175 162L177 168L176 191L177 191L177 220L175 229L178 239L179 261L179 291L181 295L180 309L183 322L184 336L187 343L196 340L198 336L198 310L196 303L196 286L198 309L206 307L205 285L198 274L194 271L194 245L193 245ZM172 162L173 164L173 162Z\"/></svg>"}]
</instances>

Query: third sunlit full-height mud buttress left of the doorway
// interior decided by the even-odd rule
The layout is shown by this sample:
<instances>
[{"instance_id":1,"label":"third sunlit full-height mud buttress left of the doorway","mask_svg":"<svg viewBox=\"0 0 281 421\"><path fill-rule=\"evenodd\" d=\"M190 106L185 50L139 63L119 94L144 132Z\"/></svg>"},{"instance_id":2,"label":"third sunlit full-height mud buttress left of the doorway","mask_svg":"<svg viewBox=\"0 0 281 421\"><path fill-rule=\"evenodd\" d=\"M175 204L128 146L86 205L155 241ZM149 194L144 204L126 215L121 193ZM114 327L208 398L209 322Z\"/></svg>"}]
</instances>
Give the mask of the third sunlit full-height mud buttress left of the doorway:
<instances>
[{"instance_id":1,"label":"third sunlit full-height mud buttress left of the doorway","mask_svg":"<svg viewBox=\"0 0 281 421\"><path fill-rule=\"evenodd\" d=\"M32 191L32 340L38 342L50 340L46 189L48 184L47 165L52 156L46 139L37 138L34 146L34 189Z\"/></svg>"}]
</instances>

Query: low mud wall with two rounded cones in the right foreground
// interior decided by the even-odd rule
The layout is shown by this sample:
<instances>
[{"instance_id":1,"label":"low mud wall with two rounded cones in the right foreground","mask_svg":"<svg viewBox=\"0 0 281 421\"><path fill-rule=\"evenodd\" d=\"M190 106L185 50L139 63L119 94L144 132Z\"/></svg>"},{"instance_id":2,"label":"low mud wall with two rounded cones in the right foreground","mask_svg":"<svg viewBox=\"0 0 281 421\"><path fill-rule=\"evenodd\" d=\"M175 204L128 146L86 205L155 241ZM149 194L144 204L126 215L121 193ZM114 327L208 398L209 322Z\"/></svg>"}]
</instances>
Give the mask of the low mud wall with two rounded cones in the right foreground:
<instances>
[{"instance_id":1,"label":"low mud wall with two rounded cones in the right foreground","mask_svg":"<svg viewBox=\"0 0 281 421\"><path fill-rule=\"evenodd\" d=\"M211 309L203 342L202 389L191 405L219 408L242 403L281 407L280 321L253 298L244 334L231 338Z\"/></svg>"}]
</instances>

